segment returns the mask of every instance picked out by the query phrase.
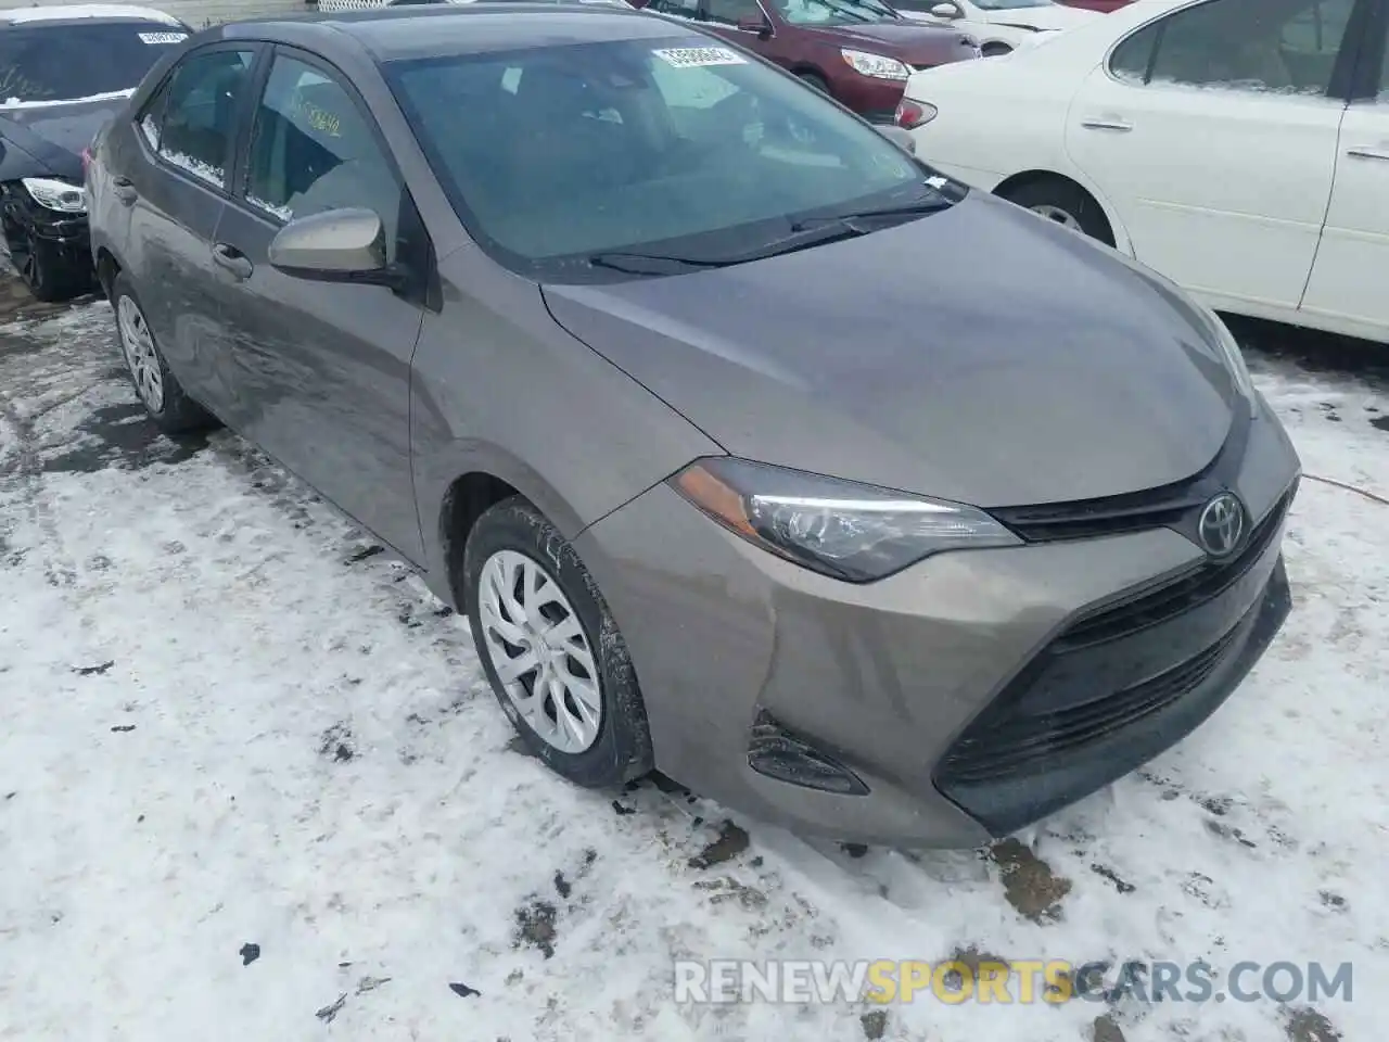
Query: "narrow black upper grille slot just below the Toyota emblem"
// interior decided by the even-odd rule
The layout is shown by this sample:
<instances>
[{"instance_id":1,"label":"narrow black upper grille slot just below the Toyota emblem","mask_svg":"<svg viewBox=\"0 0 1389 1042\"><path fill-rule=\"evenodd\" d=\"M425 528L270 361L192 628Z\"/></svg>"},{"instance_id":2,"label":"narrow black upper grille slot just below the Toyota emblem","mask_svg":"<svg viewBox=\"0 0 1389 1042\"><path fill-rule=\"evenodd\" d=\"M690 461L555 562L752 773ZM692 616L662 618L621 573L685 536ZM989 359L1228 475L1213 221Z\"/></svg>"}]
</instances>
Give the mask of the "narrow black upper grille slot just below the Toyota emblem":
<instances>
[{"instance_id":1,"label":"narrow black upper grille slot just below the Toyota emblem","mask_svg":"<svg viewBox=\"0 0 1389 1042\"><path fill-rule=\"evenodd\" d=\"M1089 647L1136 634L1218 597L1263 557L1270 542L1278 535L1296 492L1297 488L1293 485L1283 493L1254 527L1245 549L1233 557L1203 561L1181 575L1164 579L1156 589L1129 593L1118 603L1092 609L1057 639L1057 650Z\"/></svg>"}]
</instances>

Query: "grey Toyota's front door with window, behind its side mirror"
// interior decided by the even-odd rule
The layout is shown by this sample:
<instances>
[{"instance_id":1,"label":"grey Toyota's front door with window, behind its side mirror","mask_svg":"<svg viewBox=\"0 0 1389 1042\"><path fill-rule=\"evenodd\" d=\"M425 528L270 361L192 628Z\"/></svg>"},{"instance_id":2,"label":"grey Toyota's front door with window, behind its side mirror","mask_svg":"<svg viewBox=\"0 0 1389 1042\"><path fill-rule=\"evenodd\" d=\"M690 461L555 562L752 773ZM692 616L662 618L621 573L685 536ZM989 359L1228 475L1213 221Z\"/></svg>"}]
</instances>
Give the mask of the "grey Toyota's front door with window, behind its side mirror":
<instances>
[{"instance_id":1,"label":"grey Toyota's front door with window, behind its side mirror","mask_svg":"<svg viewBox=\"0 0 1389 1042\"><path fill-rule=\"evenodd\" d=\"M381 217L394 261L403 226L419 232L386 156L335 69L278 50L211 254L246 436L418 561L410 374L422 307L383 286L292 278L268 260L294 217L364 207Z\"/></svg>"}]
</instances>

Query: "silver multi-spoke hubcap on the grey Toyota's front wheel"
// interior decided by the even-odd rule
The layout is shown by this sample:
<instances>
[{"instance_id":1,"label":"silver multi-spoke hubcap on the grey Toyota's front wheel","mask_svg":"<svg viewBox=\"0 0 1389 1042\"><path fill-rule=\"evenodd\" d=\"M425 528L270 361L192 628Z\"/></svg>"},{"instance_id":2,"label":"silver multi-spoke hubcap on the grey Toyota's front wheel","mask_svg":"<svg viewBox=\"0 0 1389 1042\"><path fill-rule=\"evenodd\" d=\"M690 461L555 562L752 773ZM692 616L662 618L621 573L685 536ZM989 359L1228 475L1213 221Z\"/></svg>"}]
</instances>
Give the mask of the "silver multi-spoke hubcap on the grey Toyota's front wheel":
<instances>
[{"instance_id":1,"label":"silver multi-spoke hubcap on the grey Toyota's front wheel","mask_svg":"<svg viewBox=\"0 0 1389 1042\"><path fill-rule=\"evenodd\" d=\"M478 614L492 668L517 713L563 753L599 736L603 696L579 615L539 563L499 550L482 565Z\"/></svg>"}]
</instances>

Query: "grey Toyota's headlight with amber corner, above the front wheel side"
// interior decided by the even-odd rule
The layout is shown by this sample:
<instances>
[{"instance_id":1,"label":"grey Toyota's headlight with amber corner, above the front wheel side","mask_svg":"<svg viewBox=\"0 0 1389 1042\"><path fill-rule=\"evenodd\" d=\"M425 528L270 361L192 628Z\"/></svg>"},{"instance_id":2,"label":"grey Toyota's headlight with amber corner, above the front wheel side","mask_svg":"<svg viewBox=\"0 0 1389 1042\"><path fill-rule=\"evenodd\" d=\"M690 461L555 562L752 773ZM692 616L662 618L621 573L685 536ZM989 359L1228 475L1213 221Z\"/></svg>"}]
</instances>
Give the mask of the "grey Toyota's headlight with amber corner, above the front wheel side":
<instances>
[{"instance_id":1,"label":"grey Toyota's headlight with amber corner, above the front wheel side","mask_svg":"<svg viewBox=\"0 0 1389 1042\"><path fill-rule=\"evenodd\" d=\"M749 460L699 460L671 479L750 543L847 582L871 582L943 550L1017 546L975 507Z\"/></svg>"}]
</instances>

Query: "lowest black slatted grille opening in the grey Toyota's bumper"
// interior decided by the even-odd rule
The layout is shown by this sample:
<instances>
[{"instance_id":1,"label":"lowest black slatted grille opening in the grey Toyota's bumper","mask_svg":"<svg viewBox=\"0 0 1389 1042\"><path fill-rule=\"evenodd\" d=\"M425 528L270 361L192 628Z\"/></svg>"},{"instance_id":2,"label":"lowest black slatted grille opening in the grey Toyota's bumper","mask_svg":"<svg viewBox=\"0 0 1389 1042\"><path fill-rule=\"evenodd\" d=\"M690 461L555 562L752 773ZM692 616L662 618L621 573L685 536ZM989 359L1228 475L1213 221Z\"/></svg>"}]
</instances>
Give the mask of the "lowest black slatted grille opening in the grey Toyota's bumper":
<instances>
[{"instance_id":1,"label":"lowest black slatted grille opening in the grey Toyota's bumper","mask_svg":"<svg viewBox=\"0 0 1389 1042\"><path fill-rule=\"evenodd\" d=\"M1199 688L1225 660L1242 632L1243 627L1236 627L1200 654L1125 690L967 732L942 760L940 775L953 785L993 781L1025 772L1036 760L1129 727Z\"/></svg>"}]
</instances>

